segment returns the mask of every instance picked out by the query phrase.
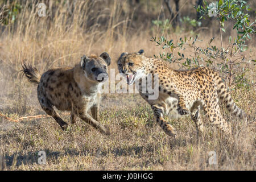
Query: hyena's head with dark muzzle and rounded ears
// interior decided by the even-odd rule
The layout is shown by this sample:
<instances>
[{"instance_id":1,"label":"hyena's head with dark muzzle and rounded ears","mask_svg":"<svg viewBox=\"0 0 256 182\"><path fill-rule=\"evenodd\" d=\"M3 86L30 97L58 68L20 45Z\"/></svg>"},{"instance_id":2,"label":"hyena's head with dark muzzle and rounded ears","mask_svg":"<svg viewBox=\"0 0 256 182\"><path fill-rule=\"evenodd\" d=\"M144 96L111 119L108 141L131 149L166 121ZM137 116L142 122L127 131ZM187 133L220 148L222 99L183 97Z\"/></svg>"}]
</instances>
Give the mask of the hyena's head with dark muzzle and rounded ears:
<instances>
[{"instance_id":1,"label":"hyena's head with dark muzzle and rounded ears","mask_svg":"<svg viewBox=\"0 0 256 182\"><path fill-rule=\"evenodd\" d=\"M81 57L81 67L84 71L84 76L91 81L103 82L109 77L108 66L111 58L108 53L104 52L100 57L96 55L86 55Z\"/></svg>"}]
</instances>

